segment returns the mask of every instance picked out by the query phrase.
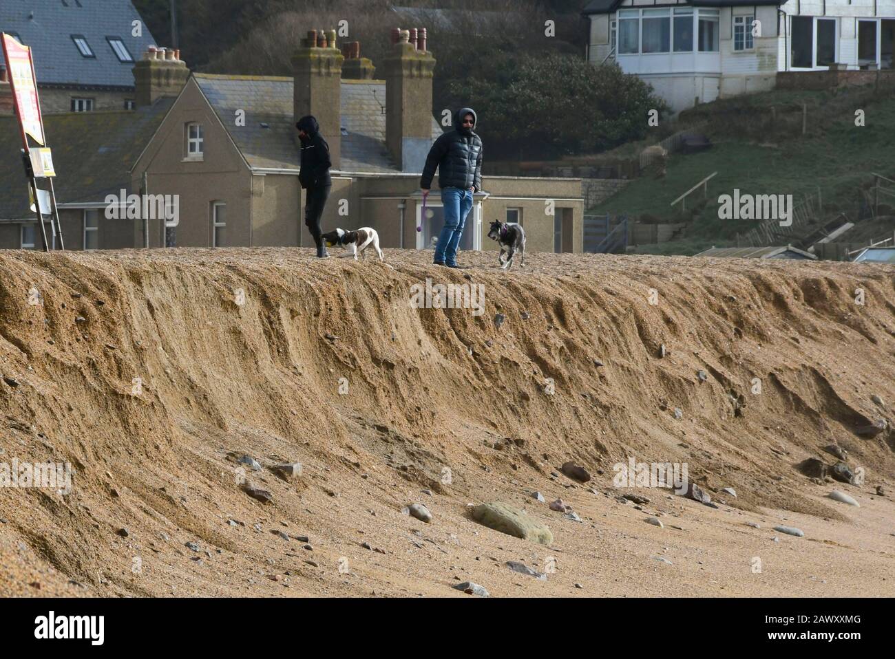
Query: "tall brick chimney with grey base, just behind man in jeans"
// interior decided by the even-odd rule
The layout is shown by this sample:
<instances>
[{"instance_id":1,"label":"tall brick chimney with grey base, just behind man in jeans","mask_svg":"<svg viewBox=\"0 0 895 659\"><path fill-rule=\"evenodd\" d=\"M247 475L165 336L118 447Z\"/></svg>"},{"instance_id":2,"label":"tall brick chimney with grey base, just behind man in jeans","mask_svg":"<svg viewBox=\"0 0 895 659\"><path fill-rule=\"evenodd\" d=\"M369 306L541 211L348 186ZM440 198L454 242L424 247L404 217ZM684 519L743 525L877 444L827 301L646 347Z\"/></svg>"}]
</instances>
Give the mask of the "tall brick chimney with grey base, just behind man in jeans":
<instances>
[{"instance_id":1,"label":"tall brick chimney with grey base, just behind man in jeans","mask_svg":"<svg viewBox=\"0 0 895 659\"><path fill-rule=\"evenodd\" d=\"M432 72L425 28L394 29L385 58L386 144L403 172L422 172L432 144Z\"/></svg>"}]
</instances>

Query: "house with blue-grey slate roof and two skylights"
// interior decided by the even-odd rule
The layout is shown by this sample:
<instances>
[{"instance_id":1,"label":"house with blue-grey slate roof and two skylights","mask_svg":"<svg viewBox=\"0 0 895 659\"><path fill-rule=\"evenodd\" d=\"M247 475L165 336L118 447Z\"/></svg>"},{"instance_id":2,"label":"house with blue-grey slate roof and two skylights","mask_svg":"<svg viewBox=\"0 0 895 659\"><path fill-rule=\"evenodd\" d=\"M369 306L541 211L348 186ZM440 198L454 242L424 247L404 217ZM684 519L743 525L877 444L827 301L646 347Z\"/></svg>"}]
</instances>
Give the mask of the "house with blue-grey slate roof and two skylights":
<instances>
[{"instance_id":1,"label":"house with blue-grey slate roof and two skylights","mask_svg":"<svg viewBox=\"0 0 895 659\"><path fill-rule=\"evenodd\" d=\"M3 0L0 32L34 49L44 114L133 109L133 65L156 43L131 0Z\"/></svg>"}]
</instances>

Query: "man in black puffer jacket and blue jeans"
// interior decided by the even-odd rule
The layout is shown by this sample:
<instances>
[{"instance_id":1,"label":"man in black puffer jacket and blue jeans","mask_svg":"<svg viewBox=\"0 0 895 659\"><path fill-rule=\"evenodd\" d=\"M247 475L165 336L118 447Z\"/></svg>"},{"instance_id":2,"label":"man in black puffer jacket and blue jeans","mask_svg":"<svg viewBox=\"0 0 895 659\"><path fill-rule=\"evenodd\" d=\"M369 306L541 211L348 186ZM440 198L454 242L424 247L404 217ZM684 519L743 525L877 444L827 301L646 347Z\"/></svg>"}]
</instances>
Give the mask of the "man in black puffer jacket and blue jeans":
<instances>
[{"instance_id":1,"label":"man in black puffer jacket and blue jeans","mask_svg":"<svg viewBox=\"0 0 895 659\"><path fill-rule=\"evenodd\" d=\"M445 225L435 246L435 265L463 267L456 263L456 249L463 236L466 216L473 207L473 192L482 190L482 138L473 129L478 121L471 107L454 114L456 128L435 140L422 170L420 187L429 196L435 168L439 170Z\"/></svg>"}]
</instances>

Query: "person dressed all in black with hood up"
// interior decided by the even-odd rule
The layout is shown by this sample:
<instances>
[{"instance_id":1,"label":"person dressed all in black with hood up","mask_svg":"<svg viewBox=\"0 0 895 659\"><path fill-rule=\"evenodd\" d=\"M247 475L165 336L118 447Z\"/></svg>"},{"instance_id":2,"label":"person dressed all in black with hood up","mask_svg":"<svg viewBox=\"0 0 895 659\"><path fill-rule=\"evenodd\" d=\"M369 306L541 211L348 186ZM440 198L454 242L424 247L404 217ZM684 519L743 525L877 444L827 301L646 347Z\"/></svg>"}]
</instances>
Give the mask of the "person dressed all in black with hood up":
<instances>
[{"instance_id":1,"label":"person dressed all in black with hood up","mask_svg":"<svg viewBox=\"0 0 895 659\"><path fill-rule=\"evenodd\" d=\"M298 173L298 182L308 190L304 199L304 224L311 231L317 245L317 258L329 258L327 247L320 238L320 217L327 205L332 179L329 177L329 145L320 135L320 124L311 115L303 116L295 123L298 137L302 140L302 168Z\"/></svg>"}]
</instances>

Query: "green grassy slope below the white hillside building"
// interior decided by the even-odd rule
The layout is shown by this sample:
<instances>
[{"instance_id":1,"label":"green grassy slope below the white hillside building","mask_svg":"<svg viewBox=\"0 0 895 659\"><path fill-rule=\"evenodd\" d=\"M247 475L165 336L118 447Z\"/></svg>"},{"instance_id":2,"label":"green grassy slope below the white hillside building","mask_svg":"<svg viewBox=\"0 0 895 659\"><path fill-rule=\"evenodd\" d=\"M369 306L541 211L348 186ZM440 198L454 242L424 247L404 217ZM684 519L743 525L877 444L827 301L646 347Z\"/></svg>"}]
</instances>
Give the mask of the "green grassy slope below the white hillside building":
<instances>
[{"instance_id":1,"label":"green grassy slope below the white hillside building","mask_svg":"<svg viewBox=\"0 0 895 659\"><path fill-rule=\"evenodd\" d=\"M800 97L811 103L810 93L802 92ZM815 94L814 102L820 97ZM666 254L693 254L713 244L733 244L737 232L752 228L754 223L748 221L718 218L719 195L732 194L735 188L741 193L793 194L796 202L805 194L816 195L821 190L826 210L853 214L857 211L857 190L870 181L870 172L895 178L891 176L895 172L895 97L865 105L865 126L855 126L851 111L850 116L832 123L817 137L761 145L755 140L713 135L712 149L671 156L665 178L646 173L588 212L652 215L662 221L680 222L682 218L670 202L708 174L718 172L709 182L708 200L698 208L686 240L638 249ZM695 192L687 199L686 219L701 198L702 194Z\"/></svg>"}]
</instances>

